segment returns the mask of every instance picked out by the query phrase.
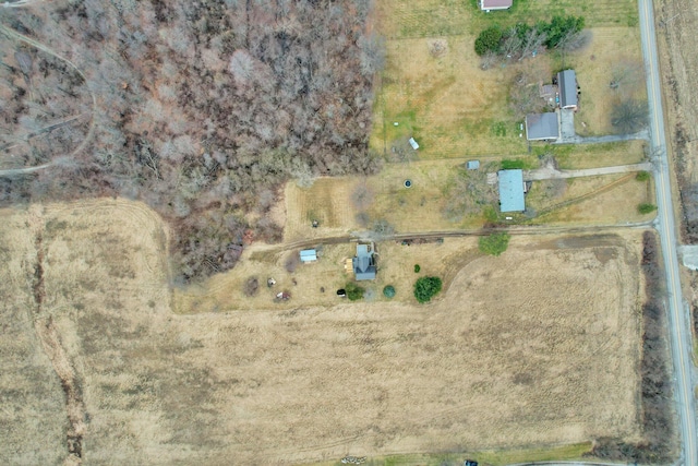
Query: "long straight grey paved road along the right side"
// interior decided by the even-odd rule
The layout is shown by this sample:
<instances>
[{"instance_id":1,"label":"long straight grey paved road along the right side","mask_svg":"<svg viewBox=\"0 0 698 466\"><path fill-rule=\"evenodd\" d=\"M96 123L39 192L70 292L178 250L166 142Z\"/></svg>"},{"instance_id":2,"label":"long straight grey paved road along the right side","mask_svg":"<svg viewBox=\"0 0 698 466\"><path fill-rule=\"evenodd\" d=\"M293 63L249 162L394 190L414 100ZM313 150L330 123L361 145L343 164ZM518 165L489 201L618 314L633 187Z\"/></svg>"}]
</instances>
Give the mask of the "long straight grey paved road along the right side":
<instances>
[{"instance_id":1,"label":"long straight grey paved road along the right side","mask_svg":"<svg viewBox=\"0 0 698 466\"><path fill-rule=\"evenodd\" d=\"M684 303L678 276L676 256L676 229L672 203L671 179L669 174L669 156L666 154L666 135L664 133L664 115L660 87L659 64L657 58L657 32L654 31L654 12L652 0L638 0L640 11L640 33L642 55L647 71L647 95L650 107L650 145L652 153L660 153L655 164L657 205L659 214L655 227L662 244L664 267L666 272L666 290L669 292L669 332L674 361L674 397L679 420L682 437L682 458L679 464L698 466L696 452L696 410L691 382L691 333L688 307Z\"/></svg>"}]
</instances>

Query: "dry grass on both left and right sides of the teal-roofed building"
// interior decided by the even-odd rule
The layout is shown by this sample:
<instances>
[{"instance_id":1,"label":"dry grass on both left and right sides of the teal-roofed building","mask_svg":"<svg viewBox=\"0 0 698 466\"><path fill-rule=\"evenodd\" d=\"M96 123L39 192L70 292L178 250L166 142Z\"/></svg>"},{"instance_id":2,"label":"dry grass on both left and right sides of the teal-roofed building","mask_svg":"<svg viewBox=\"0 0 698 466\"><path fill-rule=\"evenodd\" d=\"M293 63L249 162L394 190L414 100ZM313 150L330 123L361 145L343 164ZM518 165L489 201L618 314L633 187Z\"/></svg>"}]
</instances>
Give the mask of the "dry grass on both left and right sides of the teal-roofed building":
<instances>
[{"instance_id":1,"label":"dry grass on both left and right sides of the teal-roofed building","mask_svg":"<svg viewBox=\"0 0 698 466\"><path fill-rule=\"evenodd\" d=\"M598 147L582 145L579 151L570 146L551 148L550 153L556 157L559 167L566 169L635 164L641 162L643 154L642 143L638 141ZM479 159L482 171L494 172L500 167L490 158ZM524 157L522 160L531 168L539 166L535 156ZM484 177L478 184L479 193L458 190L456 178L462 174L466 162L467 158L459 158L387 164L376 176L365 179L321 178L310 188L299 188L289 182L285 191L287 223L284 239L292 242L359 235L370 230L376 220L386 220L401 234L480 228L485 223L482 210L457 218L445 214L449 203L459 195L479 199L483 205L498 211L496 186L488 186ZM527 194L527 206L531 208L531 215L546 212L545 216L535 219L539 223L552 222L549 214L556 214L555 223L563 224L612 225L646 219L637 214L637 205L653 202L652 193L648 191L648 182L637 182L634 177L635 174L629 174L535 181ZM621 178L623 180L618 182ZM409 189L404 186L406 179L412 182ZM354 201L359 191L365 193L361 208ZM606 192L610 194L602 195ZM569 204L575 204L574 215L569 214ZM593 208L580 211L585 205ZM559 210L563 212L557 212ZM363 219L360 213L365 214ZM320 219L318 228L312 227L312 218Z\"/></svg>"}]
</instances>

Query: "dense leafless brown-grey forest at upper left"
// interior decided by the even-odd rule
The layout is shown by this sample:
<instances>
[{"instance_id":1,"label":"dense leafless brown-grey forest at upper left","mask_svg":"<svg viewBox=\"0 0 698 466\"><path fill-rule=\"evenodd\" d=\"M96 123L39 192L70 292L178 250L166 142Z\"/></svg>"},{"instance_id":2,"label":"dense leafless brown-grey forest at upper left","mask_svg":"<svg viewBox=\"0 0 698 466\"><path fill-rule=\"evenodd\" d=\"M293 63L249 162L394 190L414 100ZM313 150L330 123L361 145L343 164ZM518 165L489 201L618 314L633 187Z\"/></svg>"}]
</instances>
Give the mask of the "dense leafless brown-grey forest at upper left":
<instances>
[{"instance_id":1,"label":"dense leafless brown-grey forest at upper left","mask_svg":"<svg viewBox=\"0 0 698 466\"><path fill-rule=\"evenodd\" d=\"M371 0L101 0L0 10L3 204L121 195L190 280L234 265L289 177L368 174Z\"/></svg>"}]
</instances>

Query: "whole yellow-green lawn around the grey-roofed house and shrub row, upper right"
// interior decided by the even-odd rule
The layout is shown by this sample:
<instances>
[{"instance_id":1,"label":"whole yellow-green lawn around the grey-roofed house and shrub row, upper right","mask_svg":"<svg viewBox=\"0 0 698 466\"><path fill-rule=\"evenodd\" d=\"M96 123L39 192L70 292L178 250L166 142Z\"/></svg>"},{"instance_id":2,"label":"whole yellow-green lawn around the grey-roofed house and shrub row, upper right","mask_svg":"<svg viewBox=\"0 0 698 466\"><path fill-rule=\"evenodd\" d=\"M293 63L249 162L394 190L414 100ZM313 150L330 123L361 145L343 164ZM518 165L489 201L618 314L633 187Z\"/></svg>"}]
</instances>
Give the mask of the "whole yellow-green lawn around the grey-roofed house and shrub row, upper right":
<instances>
[{"instance_id":1,"label":"whole yellow-green lawn around the grey-roofed house and shrub row, upper right","mask_svg":"<svg viewBox=\"0 0 698 466\"><path fill-rule=\"evenodd\" d=\"M488 14L474 1L387 0L377 10L380 32L387 38L387 62L371 143L388 156L395 141L409 136L419 142L421 159L526 154L522 119L509 106L512 83L521 72L549 82L563 68L578 71L582 88L578 131L610 133L616 98L609 87L613 67L621 60L641 63L634 1L521 1L510 11ZM552 51L490 70L480 68L473 50L480 31L492 24L533 24L554 14L582 15L591 31L590 45L565 57ZM642 96L640 88L638 97Z\"/></svg>"}]
</instances>

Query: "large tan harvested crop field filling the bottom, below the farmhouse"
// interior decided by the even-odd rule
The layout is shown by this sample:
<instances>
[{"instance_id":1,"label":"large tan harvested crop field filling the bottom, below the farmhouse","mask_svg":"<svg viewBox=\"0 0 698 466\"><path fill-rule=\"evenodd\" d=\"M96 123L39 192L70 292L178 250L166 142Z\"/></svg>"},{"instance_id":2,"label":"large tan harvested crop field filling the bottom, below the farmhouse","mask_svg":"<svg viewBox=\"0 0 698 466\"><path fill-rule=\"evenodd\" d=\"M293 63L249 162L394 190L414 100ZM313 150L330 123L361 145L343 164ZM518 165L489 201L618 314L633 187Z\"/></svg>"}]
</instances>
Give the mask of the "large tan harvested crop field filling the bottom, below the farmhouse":
<instances>
[{"instance_id":1,"label":"large tan harvested crop field filling the bottom, below the farmhouse","mask_svg":"<svg viewBox=\"0 0 698 466\"><path fill-rule=\"evenodd\" d=\"M639 438L638 232L515 237L501 258L466 261L430 306L177 315L166 231L142 204L2 218L11 266L0 283L12 286L0 323L29 339L32 320L53 323L82 390L87 463L291 464ZM37 264L45 295L33 314ZM17 432L28 416L53 428L40 443L0 435L0 459L50 461L64 449L61 383L36 344L0 339L3 355L20 346L35 369L3 366L0 425Z\"/></svg>"}]
</instances>

